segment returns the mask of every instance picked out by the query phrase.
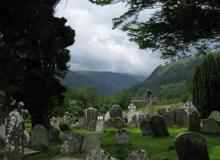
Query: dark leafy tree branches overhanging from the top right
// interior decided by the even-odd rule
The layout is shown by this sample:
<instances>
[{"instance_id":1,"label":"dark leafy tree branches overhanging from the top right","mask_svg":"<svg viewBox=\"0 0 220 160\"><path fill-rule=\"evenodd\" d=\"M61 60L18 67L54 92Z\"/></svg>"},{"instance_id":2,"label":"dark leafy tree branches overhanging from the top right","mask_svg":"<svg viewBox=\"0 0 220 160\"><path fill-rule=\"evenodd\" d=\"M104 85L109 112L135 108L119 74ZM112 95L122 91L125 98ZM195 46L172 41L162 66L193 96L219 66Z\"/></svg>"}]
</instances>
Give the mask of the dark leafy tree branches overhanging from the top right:
<instances>
[{"instance_id":1,"label":"dark leafy tree branches overhanging from the top right","mask_svg":"<svg viewBox=\"0 0 220 160\"><path fill-rule=\"evenodd\" d=\"M128 11L113 19L140 49L162 52L162 58L204 53L219 48L220 1L218 0L90 0L99 5L127 3ZM147 9L152 16L140 18ZM211 45L210 45L211 44Z\"/></svg>"}]
</instances>

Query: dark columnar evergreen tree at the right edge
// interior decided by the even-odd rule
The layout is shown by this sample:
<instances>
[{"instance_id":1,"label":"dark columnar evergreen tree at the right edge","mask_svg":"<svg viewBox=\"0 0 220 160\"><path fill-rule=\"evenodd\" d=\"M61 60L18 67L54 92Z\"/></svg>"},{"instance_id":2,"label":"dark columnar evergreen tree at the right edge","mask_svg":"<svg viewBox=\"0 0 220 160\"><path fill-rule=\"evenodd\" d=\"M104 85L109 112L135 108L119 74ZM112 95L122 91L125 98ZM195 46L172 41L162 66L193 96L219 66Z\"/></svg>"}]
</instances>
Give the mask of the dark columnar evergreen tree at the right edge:
<instances>
[{"instance_id":1,"label":"dark columnar evergreen tree at the right edge","mask_svg":"<svg viewBox=\"0 0 220 160\"><path fill-rule=\"evenodd\" d=\"M220 111L220 56L209 54L197 68L193 79L193 103L203 118Z\"/></svg>"}]
</instances>

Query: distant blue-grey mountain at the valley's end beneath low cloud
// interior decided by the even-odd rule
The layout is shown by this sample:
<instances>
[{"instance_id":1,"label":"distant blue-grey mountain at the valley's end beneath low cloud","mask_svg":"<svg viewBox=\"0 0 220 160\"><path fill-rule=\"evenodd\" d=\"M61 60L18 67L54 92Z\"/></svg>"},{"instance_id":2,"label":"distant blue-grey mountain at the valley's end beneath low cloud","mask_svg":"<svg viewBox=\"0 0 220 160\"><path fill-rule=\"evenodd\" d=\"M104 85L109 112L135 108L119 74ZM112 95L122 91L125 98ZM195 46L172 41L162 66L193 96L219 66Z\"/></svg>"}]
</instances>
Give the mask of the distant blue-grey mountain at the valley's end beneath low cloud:
<instances>
[{"instance_id":1,"label":"distant blue-grey mountain at the valley's end beneath low cloud","mask_svg":"<svg viewBox=\"0 0 220 160\"><path fill-rule=\"evenodd\" d=\"M102 95L114 95L141 83L144 79L126 73L69 71L61 82L69 89L95 87Z\"/></svg>"}]
</instances>

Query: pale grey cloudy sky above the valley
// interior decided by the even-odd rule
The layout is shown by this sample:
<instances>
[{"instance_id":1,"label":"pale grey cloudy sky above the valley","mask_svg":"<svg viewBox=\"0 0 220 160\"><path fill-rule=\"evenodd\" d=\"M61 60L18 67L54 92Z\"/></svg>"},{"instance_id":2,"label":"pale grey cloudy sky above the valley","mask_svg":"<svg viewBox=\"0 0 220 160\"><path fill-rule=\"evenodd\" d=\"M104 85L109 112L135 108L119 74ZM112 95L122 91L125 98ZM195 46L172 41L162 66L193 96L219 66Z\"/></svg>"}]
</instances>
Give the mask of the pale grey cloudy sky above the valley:
<instances>
[{"instance_id":1,"label":"pale grey cloudy sky above the valley","mask_svg":"<svg viewBox=\"0 0 220 160\"><path fill-rule=\"evenodd\" d=\"M160 55L139 50L129 42L126 33L112 30L112 18L120 16L126 7L119 3L97 6L88 0L66 0L57 6L56 16L65 17L76 31L71 50L71 70L112 71L146 76L163 61ZM150 12L144 13L149 17Z\"/></svg>"}]
</instances>

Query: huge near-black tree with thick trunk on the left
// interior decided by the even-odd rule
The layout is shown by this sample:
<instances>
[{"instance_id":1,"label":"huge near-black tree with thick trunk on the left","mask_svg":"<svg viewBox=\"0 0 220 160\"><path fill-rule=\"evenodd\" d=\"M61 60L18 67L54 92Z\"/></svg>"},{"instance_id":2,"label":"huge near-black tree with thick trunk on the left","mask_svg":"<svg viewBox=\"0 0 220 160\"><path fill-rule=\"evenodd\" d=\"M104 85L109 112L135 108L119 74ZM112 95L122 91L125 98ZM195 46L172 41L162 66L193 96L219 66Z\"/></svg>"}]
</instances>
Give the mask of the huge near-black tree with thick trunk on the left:
<instances>
[{"instance_id":1,"label":"huge near-black tree with thick trunk on the left","mask_svg":"<svg viewBox=\"0 0 220 160\"><path fill-rule=\"evenodd\" d=\"M24 101L32 127L49 128L48 114L61 102L75 32L54 16L59 0L0 0L0 90ZM10 110L10 109L9 109Z\"/></svg>"}]
</instances>

